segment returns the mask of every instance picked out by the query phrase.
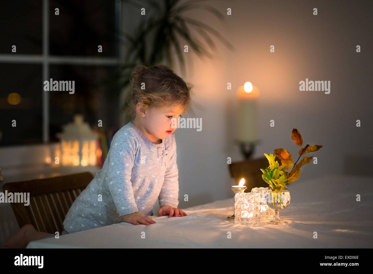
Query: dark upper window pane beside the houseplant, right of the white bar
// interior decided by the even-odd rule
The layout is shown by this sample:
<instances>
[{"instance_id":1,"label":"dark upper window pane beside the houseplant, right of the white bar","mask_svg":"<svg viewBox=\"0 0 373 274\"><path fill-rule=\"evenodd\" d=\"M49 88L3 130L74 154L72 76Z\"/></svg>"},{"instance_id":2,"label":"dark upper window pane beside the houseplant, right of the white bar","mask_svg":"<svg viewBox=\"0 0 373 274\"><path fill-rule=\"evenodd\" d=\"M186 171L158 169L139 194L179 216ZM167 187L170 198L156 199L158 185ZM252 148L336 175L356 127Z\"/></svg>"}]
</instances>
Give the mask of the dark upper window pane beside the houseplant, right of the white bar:
<instances>
[{"instance_id":1,"label":"dark upper window pane beside the houseplant, right of the white bar","mask_svg":"<svg viewBox=\"0 0 373 274\"><path fill-rule=\"evenodd\" d=\"M51 0L49 7L51 55L116 56L115 0Z\"/></svg>"}]
</instances>

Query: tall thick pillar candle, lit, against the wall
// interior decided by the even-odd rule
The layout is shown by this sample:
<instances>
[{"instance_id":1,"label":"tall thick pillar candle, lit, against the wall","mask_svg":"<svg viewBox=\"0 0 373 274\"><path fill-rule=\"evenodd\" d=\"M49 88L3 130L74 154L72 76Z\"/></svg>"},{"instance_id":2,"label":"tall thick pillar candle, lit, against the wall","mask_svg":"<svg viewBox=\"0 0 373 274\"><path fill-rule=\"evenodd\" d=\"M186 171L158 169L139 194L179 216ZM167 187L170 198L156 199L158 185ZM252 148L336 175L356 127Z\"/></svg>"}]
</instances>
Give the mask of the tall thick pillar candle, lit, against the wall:
<instances>
[{"instance_id":1,"label":"tall thick pillar candle, lit, against the wall","mask_svg":"<svg viewBox=\"0 0 373 274\"><path fill-rule=\"evenodd\" d=\"M257 141L259 89L250 82L237 89L238 105L238 141Z\"/></svg>"}]
</instances>

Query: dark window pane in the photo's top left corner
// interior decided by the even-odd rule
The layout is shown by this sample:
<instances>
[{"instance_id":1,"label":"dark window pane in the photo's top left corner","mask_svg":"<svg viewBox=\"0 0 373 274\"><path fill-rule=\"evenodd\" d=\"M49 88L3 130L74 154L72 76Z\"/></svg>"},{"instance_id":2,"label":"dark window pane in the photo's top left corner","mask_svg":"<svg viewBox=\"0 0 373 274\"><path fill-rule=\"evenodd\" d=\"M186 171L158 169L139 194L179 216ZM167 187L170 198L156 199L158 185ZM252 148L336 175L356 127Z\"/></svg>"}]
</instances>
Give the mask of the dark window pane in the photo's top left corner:
<instances>
[{"instance_id":1,"label":"dark window pane in the photo's top left corner","mask_svg":"<svg viewBox=\"0 0 373 274\"><path fill-rule=\"evenodd\" d=\"M1 1L0 53L41 54L42 16L41 0ZM12 45L16 45L16 53L12 53Z\"/></svg>"}]
</instances>

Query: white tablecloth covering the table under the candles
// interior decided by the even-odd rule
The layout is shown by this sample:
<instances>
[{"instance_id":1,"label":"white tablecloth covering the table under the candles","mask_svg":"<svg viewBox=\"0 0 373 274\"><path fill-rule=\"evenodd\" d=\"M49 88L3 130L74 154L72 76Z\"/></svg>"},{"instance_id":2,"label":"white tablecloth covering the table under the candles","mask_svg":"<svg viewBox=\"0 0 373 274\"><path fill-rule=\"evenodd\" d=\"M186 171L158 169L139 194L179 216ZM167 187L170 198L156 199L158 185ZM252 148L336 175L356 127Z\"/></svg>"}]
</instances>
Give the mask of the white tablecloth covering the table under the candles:
<instances>
[{"instance_id":1,"label":"white tablecloth covering the table under the candles","mask_svg":"<svg viewBox=\"0 0 373 274\"><path fill-rule=\"evenodd\" d=\"M300 178L288 185L291 203L280 211L286 225L227 220L234 209L232 192L232 198L184 209L188 216L153 216L156 224L149 226L123 222L30 242L27 248L372 248L372 183L368 177Z\"/></svg>"}]
</instances>

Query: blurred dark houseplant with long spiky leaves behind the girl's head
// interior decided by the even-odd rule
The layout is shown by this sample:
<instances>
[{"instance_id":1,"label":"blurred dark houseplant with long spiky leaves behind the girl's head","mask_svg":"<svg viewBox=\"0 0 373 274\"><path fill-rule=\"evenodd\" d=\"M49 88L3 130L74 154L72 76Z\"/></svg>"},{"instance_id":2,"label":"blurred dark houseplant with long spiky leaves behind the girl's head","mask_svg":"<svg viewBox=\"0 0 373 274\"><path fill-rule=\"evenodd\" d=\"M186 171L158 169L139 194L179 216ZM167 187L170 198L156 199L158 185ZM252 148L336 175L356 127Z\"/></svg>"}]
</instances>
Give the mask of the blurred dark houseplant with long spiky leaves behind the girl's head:
<instances>
[{"instance_id":1,"label":"blurred dark houseplant with long spiky leaves behind the girl's head","mask_svg":"<svg viewBox=\"0 0 373 274\"><path fill-rule=\"evenodd\" d=\"M206 1L209 0L144 0L141 2L136 0L122 0L122 3L137 8L139 15L141 12L145 12L145 15L140 17L143 19L135 27L134 34L119 34L120 44L125 48L124 63L115 73L115 81L113 82L117 85L116 88L110 89L113 92L112 96L119 98L120 92L123 91L124 102L127 102L130 94L129 81L131 71L137 64L145 66L165 64L175 70L173 56L176 55L181 71L185 73L185 45L188 45L188 48L191 48L200 59L204 56L210 59L213 58L205 47L206 42L212 51L216 50L213 37L219 39L230 50L234 49L233 45L211 26L184 16L184 12L186 11L201 9L212 13L221 22L224 22L225 16L223 13L214 7L200 3ZM149 7L145 7L144 4ZM145 11L143 8L145 8ZM192 36L189 28L195 28L204 42ZM119 89L117 88L118 85ZM194 104L197 108L202 108L201 105ZM120 111L125 111L126 107L127 103L124 103ZM125 116L125 123L130 121L129 118L127 115Z\"/></svg>"}]
</instances>

